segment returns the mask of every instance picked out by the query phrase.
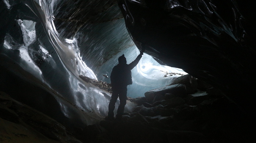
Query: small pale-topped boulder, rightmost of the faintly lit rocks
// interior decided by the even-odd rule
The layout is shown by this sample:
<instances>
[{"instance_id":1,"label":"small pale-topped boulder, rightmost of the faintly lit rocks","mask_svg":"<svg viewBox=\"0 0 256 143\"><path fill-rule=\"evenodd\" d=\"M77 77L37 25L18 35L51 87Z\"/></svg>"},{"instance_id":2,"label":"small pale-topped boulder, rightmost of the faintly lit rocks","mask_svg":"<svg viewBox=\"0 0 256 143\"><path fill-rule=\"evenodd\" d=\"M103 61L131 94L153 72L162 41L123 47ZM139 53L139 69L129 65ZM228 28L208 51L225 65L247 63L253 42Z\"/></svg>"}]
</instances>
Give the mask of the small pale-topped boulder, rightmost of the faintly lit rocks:
<instances>
[{"instance_id":1,"label":"small pale-topped boulder, rightmost of the faintly lit rocks","mask_svg":"<svg viewBox=\"0 0 256 143\"><path fill-rule=\"evenodd\" d=\"M190 94L187 97L188 105L197 105L202 103L204 100L209 99L209 94L207 94L206 92L197 92L195 94Z\"/></svg>"}]
</instances>

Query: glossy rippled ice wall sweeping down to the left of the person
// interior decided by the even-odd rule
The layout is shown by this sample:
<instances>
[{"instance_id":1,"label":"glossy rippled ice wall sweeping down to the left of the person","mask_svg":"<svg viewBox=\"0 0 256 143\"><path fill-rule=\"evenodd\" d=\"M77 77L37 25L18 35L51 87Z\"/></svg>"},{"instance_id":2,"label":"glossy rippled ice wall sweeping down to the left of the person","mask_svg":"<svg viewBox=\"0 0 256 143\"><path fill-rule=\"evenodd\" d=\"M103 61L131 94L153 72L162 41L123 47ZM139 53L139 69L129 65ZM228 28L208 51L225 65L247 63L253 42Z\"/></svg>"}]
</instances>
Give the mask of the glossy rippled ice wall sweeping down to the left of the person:
<instances>
[{"instance_id":1,"label":"glossy rippled ice wall sweeping down to the left of the person","mask_svg":"<svg viewBox=\"0 0 256 143\"><path fill-rule=\"evenodd\" d=\"M92 124L105 117L110 95L79 78L97 79L82 61L76 39L65 39L56 31L52 12L55 1L4 0L4 4L6 20L16 30L8 24L4 27L0 65L51 93L63 114L74 122Z\"/></svg>"}]
</instances>

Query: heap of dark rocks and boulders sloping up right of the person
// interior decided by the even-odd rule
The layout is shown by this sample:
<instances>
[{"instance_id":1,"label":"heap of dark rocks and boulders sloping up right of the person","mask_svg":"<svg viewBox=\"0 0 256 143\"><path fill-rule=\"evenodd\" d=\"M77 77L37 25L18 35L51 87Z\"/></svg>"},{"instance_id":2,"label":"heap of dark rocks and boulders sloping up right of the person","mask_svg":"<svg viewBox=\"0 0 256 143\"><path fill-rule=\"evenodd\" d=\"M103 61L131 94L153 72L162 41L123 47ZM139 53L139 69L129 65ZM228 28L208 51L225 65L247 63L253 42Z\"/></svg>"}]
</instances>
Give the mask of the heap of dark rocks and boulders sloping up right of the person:
<instances>
[{"instance_id":1,"label":"heap of dark rocks and boulders sloping up right of the person","mask_svg":"<svg viewBox=\"0 0 256 143\"><path fill-rule=\"evenodd\" d=\"M180 79L176 80L177 84L146 92L145 97L129 99L138 106L125 114L122 121L101 121L101 126L107 130L103 133L105 141L253 142L254 132L248 130L253 128L252 124L246 122L247 116L236 104L212 86L198 89L197 79L190 75ZM189 92L187 86L190 86ZM172 92L175 88L180 89Z\"/></svg>"}]
</instances>

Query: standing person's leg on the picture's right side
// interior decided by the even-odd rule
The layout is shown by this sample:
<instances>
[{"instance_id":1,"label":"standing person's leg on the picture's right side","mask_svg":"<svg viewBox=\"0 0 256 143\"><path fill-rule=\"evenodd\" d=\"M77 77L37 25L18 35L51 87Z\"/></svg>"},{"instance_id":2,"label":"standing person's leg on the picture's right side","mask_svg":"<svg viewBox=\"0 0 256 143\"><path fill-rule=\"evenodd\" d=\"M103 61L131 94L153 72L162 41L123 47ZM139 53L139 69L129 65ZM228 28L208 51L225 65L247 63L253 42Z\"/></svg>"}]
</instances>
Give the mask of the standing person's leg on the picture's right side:
<instances>
[{"instance_id":1,"label":"standing person's leg on the picture's right side","mask_svg":"<svg viewBox=\"0 0 256 143\"><path fill-rule=\"evenodd\" d=\"M116 115L117 119L121 119L122 115L124 114L126 99L127 99L127 87L123 87L121 88L121 91L119 94L120 105L118 106L118 109L117 109L117 115Z\"/></svg>"}]
</instances>

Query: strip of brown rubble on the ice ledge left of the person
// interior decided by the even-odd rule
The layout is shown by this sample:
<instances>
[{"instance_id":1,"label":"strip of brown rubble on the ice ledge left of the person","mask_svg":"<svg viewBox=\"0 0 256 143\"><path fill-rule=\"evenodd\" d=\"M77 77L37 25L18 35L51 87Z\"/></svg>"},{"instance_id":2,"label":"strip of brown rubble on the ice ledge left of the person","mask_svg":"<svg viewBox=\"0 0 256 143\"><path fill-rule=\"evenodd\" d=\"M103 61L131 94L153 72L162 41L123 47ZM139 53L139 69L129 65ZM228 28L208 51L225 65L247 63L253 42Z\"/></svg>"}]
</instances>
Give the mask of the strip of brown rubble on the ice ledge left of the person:
<instances>
[{"instance_id":1,"label":"strip of brown rubble on the ice ledge left of the person","mask_svg":"<svg viewBox=\"0 0 256 143\"><path fill-rule=\"evenodd\" d=\"M105 91L108 91L109 93L112 93L112 86L111 86L110 83L98 81L98 80L91 79L91 78L88 78L87 76L82 76L82 75L79 75L79 77L87 83L91 83L94 86L97 86L97 87L101 88L102 90L105 90Z\"/></svg>"}]
</instances>

